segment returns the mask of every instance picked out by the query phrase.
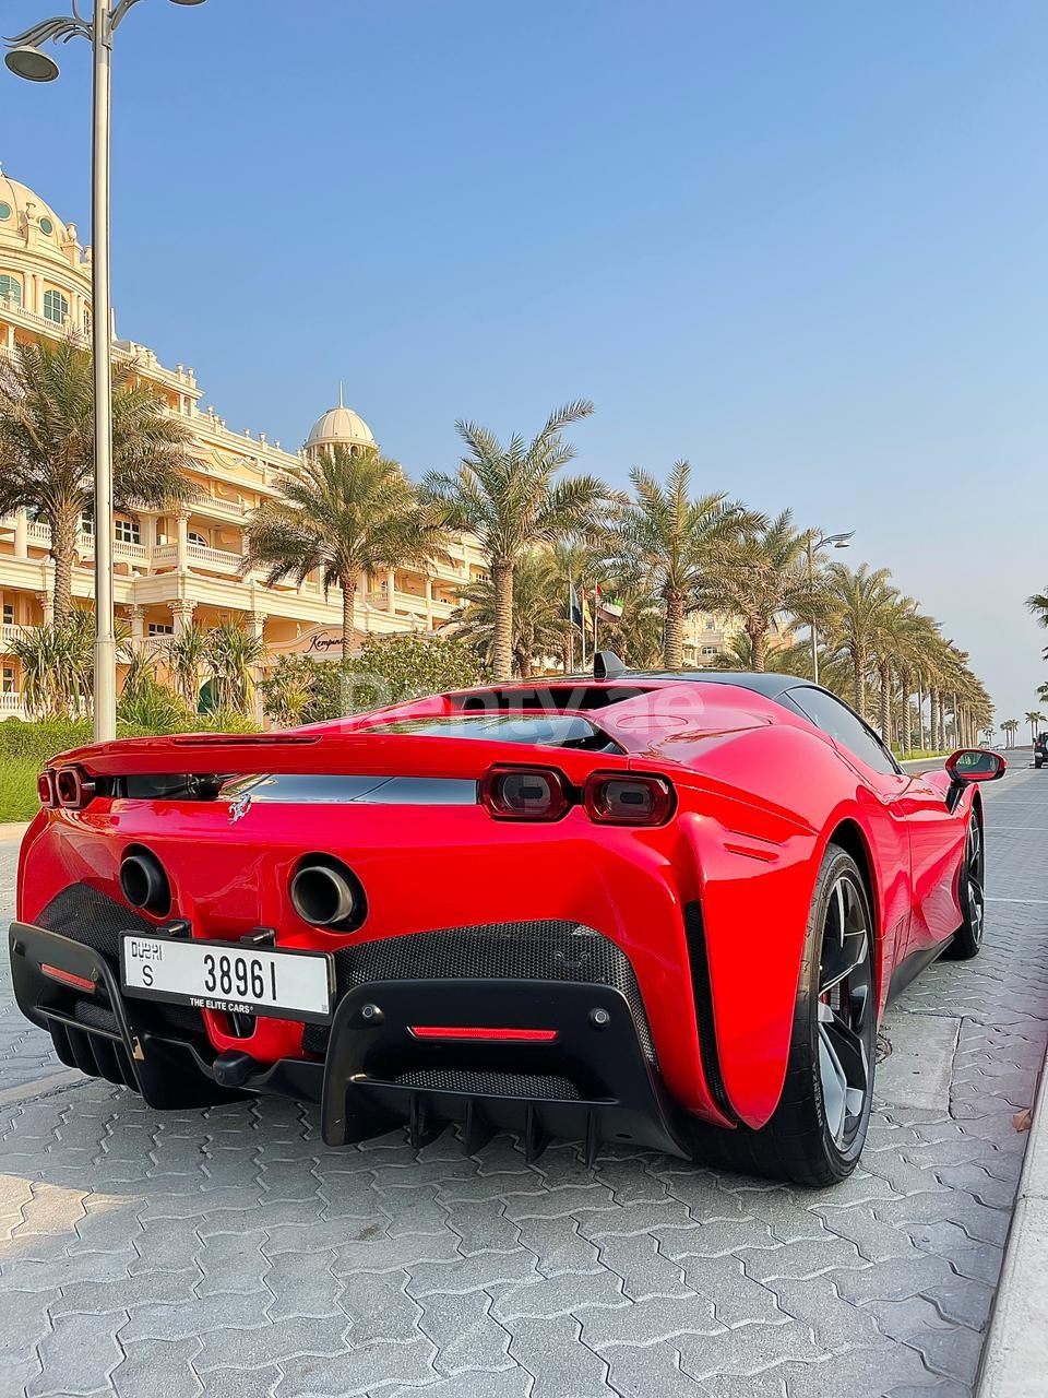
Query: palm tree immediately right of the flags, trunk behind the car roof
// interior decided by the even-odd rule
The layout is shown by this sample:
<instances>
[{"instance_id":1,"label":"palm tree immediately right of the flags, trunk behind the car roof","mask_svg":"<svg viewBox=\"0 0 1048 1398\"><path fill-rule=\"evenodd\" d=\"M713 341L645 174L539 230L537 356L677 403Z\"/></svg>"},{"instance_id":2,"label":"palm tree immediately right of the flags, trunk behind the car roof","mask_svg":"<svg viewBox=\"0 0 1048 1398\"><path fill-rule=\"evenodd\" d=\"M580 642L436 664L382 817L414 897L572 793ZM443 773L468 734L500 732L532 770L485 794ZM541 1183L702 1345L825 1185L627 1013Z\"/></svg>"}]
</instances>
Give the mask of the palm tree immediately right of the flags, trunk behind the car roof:
<instances>
[{"instance_id":1,"label":"palm tree immediately right of the flags, trunk behind the car roof","mask_svg":"<svg viewBox=\"0 0 1048 1398\"><path fill-rule=\"evenodd\" d=\"M618 563L661 598L662 664L679 670L685 617L703 604L715 605L728 545L738 542L742 530L757 530L764 521L728 503L725 495L692 498L692 467L683 460L674 464L665 485L640 467L630 471L630 482L634 498L616 528Z\"/></svg>"}]
</instances>

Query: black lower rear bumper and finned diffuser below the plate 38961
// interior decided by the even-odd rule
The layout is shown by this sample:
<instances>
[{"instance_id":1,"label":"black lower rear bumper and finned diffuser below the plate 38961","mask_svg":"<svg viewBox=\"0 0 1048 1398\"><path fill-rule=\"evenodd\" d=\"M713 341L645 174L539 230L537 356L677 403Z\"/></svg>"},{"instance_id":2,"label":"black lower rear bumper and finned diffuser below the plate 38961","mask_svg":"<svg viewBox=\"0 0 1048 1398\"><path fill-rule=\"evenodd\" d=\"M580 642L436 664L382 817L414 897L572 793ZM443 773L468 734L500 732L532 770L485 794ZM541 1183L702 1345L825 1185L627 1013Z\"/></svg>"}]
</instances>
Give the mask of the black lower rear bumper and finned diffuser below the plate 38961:
<instances>
[{"instance_id":1,"label":"black lower rear bumper and finned diffuser below the plate 38961","mask_svg":"<svg viewBox=\"0 0 1048 1398\"><path fill-rule=\"evenodd\" d=\"M340 998L317 1044L323 1057L263 1064L249 1051L217 1053L203 1022L196 1033L191 1018L172 1025L163 1007L124 1000L115 960L99 948L29 923L13 923L8 939L18 1005L52 1033L61 1061L133 1088L158 1109L282 1093L321 1104L328 1145L401 1121L422 1144L457 1121L467 1152L510 1130L528 1156L553 1137L584 1141L590 1159L602 1139L690 1153L689 1118L662 1088L643 1009L639 1021L633 997L615 984L367 980ZM45 966L66 974L56 979ZM555 1037L423 1040L412 1032L419 1025L541 1028Z\"/></svg>"}]
</instances>

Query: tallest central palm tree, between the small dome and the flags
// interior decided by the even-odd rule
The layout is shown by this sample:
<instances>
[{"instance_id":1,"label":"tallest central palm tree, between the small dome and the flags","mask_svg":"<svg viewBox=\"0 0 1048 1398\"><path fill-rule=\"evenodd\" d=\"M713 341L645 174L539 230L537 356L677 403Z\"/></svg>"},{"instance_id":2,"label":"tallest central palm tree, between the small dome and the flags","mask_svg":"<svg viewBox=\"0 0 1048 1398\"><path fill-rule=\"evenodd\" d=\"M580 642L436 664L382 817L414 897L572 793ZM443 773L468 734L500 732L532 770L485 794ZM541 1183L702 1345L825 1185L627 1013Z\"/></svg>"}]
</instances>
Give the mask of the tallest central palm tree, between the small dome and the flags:
<instances>
[{"instance_id":1,"label":"tallest central palm tree, between the small dome and the flags","mask_svg":"<svg viewBox=\"0 0 1048 1398\"><path fill-rule=\"evenodd\" d=\"M430 471L423 489L447 512L454 528L468 530L488 555L495 590L492 674L509 679L513 665L513 576L524 555L570 535L591 538L605 523L609 495L595 475L556 481L574 457L562 432L588 418L581 398L558 408L530 443L520 435L502 443L488 428L456 422L467 446L456 473Z\"/></svg>"}]
</instances>

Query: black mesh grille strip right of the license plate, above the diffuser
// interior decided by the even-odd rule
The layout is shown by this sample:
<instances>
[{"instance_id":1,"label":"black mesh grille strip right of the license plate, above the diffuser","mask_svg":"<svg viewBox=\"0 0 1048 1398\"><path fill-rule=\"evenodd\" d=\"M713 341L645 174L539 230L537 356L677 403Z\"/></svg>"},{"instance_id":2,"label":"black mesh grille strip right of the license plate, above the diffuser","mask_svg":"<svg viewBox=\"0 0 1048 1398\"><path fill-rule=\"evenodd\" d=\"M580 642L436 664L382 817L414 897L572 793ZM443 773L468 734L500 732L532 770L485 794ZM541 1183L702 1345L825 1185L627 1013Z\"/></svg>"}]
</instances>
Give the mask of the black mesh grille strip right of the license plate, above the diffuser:
<instances>
[{"instance_id":1,"label":"black mesh grille strip right of the license plate, above the diffuser","mask_svg":"<svg viewBox=\"0 0 1048 1398\"><path fill-rule=\"evenodd\" d=\"M626 997L646 1057L654 1062L644 1001L620 946L580 923L486 923L411 932L335 952L338 995L374 980L567 980L612 986ZM327 1029L309 1026L307 1053L327 1050Z\"/></svg>"}]
</instances>

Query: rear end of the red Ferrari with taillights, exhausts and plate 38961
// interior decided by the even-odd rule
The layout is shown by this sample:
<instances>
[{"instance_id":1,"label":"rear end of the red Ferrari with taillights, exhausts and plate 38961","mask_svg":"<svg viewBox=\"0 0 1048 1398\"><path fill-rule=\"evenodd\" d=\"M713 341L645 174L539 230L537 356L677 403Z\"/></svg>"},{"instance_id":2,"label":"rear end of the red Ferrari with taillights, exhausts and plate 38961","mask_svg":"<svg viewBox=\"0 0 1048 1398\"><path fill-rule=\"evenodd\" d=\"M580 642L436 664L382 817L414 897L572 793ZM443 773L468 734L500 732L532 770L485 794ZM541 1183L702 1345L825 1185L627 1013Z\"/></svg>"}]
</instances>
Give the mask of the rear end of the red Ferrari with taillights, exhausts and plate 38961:
<instances>
[{"instance_id":1,"label":"rear end of the red Ferrari with taillights, exhausts and plate 38961","mask_svg":"<svg viewBox=\"0 0 1048 1398\"><path fill-rule=\"evenodd\" d=\"M323 1102L331 1144L457 1120L471 1151L510 1128L686 1153L696 1116L738 1120L708 791L599 707L461 705L56 759L11 928L22 1011L154 1106L284 1092Z\"/></svg>"}]
</instances>

